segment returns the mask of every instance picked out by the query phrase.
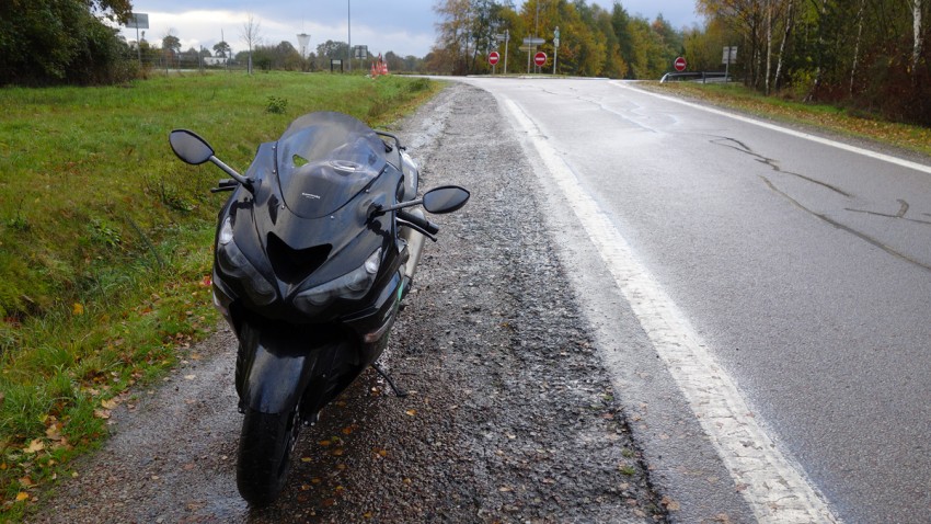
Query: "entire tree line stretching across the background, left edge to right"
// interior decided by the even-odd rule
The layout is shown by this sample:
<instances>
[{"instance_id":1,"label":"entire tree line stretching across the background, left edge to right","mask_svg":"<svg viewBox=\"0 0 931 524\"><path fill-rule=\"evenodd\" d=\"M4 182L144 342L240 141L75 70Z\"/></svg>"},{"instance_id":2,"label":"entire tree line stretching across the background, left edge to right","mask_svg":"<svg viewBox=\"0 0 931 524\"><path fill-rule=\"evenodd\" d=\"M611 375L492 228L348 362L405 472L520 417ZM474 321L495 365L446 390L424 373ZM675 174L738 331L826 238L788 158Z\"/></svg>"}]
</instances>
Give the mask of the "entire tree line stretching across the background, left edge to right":
<instances>
[{"instance_id":1,"label":"entire tree line stretching across the background, left edge to right","mask_svg":"<svg viewBox=\"0 0 931 524\"><path fill-rule=\"evenodd\" d=\"M662 14L632 16L586 0L436 0L437 38L425 57L384 54L389 70L442 75L526 72L526 37L547 54L542 71L585 77L658 79L685 56L690 70L721 71L722 49L736 46L732 72L767 94L842 104L864 114L931 124L931 0L696 0L701 26L676 29ZM265 45L248 23L248 50L181 49L176 35L127 43L130 0L0 2L0 84L112 83L145 68L197 67L205 58L260 69L330 70L348 44L327 41L307 56L289 42ZM252 22L252 19L250 19ZM250 30L251 27L251 30ZM554 36L560 29L560 45ZM499 36L507 34L509 38ZM506 70L504 57L507 57ZM250 59L251 57L251 59ZM558 60L554 59L558 57ZM141 59L140 59L141 58ZM354 70L368 68L356 60ZM555 66L555 67L554 67ZM555 69L555 71L554 71Z\"/></svg>"}]
</instances>

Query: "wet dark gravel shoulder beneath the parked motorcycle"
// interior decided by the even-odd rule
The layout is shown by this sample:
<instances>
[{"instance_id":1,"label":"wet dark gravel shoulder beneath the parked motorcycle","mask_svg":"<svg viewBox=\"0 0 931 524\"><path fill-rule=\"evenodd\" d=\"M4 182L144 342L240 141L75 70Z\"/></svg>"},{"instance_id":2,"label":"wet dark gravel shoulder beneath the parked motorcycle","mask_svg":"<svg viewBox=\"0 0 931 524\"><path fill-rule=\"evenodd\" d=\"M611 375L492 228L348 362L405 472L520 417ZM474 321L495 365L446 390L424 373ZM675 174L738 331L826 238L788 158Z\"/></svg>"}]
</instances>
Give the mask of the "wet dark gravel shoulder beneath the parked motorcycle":
<instances>
[{"instance_id":1,"label":"wet dark gravel shoulder beneath the parked motorcycle","mask_svg":"<svg viewBox=\"0 0 931 524\"><path fill-rule=\"evenodd\" d=\"M222 328L164 387L115 412L112 440L31 522L667 519L503 115L455 84L394 132L422 189L472 192L434 217L439 241L381 361L410 395L366 372L302 433L281 499L249 509L235 491L235 345Z\"/></svg>"}]
</instances>

